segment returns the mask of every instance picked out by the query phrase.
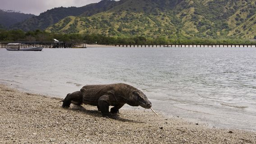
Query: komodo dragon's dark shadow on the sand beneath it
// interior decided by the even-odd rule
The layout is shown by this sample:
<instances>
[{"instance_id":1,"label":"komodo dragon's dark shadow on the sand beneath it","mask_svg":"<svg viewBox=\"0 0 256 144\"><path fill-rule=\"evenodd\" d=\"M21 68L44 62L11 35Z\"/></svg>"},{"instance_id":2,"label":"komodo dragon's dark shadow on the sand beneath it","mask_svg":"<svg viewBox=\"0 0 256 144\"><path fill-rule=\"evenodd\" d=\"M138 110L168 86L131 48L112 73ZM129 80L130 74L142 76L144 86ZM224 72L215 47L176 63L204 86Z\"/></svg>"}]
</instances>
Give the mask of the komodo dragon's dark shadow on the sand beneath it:
<instances>
[{"instance_id":1,"label":"komodo dragon's dark shadow on the sand beneath it","mask_svg":"<svg viewBox=\"0 0 256 144\"><path fill-rule=\"evenodd\" d=\"M88 110L88 109L84 108L81 105L73 105L72 107L68 108L67 110L71 110L71 111L74 111L74 112L81 112L83 114L88 114L88 115L93 116L93 117L102 117L102 114L101 114L100 111L98 111L98 110ZM115 120L123 121L123 122L144 123L142 121L134 121L134 120L126 119L126 118L121 118L119 115L118 115L118 118L115 119Z\"/></svg>"}]
</instances>

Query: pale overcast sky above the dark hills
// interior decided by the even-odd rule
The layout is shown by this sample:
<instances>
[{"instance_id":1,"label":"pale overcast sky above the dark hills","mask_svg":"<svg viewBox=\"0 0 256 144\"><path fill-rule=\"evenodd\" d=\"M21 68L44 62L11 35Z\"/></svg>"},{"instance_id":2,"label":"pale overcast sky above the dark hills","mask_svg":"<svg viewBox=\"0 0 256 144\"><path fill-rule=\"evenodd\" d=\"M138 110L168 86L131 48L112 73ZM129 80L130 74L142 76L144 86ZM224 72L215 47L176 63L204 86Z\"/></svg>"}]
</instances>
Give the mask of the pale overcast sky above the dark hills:
<instances>
[{"instance_id":1,"label":"pale overcast sky above the dark hills","mask_svg":"<svg viewBox=\"0 0 256 144\"><path fill-rule=\"evenodd\" d=\"M81 7L99 1L101 0L0 0L0 9L39 15L40 13L55 7Z\"/></svg>"}]
</instances>

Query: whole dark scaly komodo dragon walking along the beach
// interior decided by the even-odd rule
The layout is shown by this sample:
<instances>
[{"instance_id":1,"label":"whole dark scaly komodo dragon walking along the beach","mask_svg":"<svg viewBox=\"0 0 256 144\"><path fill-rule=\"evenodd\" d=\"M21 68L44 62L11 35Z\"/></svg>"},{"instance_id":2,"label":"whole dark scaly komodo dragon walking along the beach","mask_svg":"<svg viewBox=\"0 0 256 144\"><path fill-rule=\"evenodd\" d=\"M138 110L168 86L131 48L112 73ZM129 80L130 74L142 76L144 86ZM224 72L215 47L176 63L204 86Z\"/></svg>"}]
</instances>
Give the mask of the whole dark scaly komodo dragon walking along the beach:
<instances>
[{"instance_id":1,"label":"whole dark scaly komodo dragon walking along the beach","mask_svg":"<svg viewBox=\"0 0 256 144\"><path fill-rule=\"evenodd\" d=\"M63 108L69 108L70 104L81 105L89 104L97 106L103 117L117 118L115 113L125 103L131 106L142 106L151 108L151 102L147 99L142 91L127 84L110 84L110 85L85 85L80 91L67 94L63 100ZM109 106L114 106L110 109Z\"/></svg>"}]
</instances>

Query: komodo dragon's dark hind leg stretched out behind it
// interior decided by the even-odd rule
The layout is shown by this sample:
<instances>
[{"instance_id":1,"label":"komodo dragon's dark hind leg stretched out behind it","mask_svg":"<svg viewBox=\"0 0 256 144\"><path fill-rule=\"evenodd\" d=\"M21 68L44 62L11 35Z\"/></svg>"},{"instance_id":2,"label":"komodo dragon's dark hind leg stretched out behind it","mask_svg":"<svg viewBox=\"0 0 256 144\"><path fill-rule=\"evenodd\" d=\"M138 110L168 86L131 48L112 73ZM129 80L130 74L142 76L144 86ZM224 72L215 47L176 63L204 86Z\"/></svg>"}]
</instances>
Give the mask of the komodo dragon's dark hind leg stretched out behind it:
<instances>
[{"instance_id":1,"label":"komodo dragon's dark hind leg stretched out behind it","mask_svg":"<svg viewBox=\"0 0 256 144\"><path fill-rule=\"evenodd\" d=\"M62 101L63 108L69 108L70 104L73 103L75 105L82 104L82 93L80 91L73 92L72 94L67 94L65 99Z\"/></svg>"}]
</instances>

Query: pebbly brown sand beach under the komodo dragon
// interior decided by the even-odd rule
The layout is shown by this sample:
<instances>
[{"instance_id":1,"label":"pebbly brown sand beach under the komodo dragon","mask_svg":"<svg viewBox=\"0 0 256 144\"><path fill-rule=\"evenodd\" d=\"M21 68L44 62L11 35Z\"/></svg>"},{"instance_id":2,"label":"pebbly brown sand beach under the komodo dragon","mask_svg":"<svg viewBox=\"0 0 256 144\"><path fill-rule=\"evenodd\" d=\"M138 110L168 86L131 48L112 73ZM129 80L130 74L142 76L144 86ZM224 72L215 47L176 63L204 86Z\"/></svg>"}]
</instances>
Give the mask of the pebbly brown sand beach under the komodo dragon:
<instances>
[{"instance_id":1,"label":"pebbly brown sand beach under the komodo dragon","mask_svg":"<svg viewBox=\"0 0 256 144\"><path fill-rule=\"evenodd\" d=\"M0 144L256 144L256 133L207 127L150 110L120 109L119 119L96 107L61 108L59 98L0 85Z\"/></svg>"}]
</instances>

